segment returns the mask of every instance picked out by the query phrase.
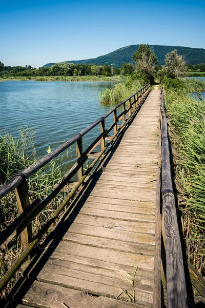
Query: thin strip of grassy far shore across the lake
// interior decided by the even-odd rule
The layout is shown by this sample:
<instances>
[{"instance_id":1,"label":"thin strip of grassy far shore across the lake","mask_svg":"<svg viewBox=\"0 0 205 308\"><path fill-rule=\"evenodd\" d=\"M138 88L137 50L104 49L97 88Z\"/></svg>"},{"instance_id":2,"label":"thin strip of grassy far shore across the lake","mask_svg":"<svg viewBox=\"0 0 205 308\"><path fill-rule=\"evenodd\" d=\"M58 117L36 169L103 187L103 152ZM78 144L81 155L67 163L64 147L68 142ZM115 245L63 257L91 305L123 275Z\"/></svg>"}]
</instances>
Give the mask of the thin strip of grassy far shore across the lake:
<instances>
[{"instance_id":1,"label":"thin strip of grassy far shore across the lake","mask_svg":"<svg viewBox=\"0 0 205 308\"><path fill-rule=\"evenodd\" d=\"M125 79L120 75L112 77L108 76L26 76L26 77L15 77L8 76L8 78L0 78L0 82L4 81L120 81Z\"/></svg>"}]
</instances>

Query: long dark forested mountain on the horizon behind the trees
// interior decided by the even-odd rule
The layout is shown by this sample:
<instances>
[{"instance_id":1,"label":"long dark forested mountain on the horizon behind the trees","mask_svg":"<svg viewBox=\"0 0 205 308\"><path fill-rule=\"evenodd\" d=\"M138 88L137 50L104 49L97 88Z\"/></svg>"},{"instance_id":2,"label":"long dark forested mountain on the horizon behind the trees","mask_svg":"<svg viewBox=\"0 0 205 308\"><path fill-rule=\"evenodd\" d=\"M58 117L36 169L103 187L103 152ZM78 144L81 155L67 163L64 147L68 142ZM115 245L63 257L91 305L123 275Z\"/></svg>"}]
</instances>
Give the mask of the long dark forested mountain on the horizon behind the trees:
<instances>
[{"instance_id":1,"label":"long dark forested mountain on the horizon behind the trees","mask_svg":"<svg viewBox=\"0 0 205 308\"><path fill-rule=\"evenodd\" d=\"M105 55L100 55L95 59L87 60L72 60L65 61L74 64L93 64L93 65L104 65L105 63L121 67L126 62L134 63L132 60L133 53L138 49L139 45L130 45L119 48L113 52ZM166 53L176 49L177 53L185 57L185 61L188 64L201 64L205 63L205 49L203 48L191 48L191 47L180 47L180 46L163 46L163 45L150 45L150 48L154 50L158 57L158 64L165 64ZM50 67L55 63L48 63L44 67Z\"/></svg>"}]
</instances>

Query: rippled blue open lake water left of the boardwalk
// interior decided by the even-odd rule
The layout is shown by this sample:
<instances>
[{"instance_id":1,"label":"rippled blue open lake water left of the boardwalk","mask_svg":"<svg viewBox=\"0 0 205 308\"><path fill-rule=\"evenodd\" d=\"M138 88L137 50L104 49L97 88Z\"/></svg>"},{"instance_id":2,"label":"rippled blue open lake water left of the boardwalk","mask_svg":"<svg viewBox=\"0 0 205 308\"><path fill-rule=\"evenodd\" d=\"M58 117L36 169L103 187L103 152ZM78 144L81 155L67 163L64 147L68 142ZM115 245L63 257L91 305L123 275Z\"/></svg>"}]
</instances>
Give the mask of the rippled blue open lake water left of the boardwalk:
<instances>
[{"instance_id":1,"label":"rippled blue open lake water left of the boardwalk","mask_svg":"<svg viewBox=\"0 0 205 308\"><path fill-rule=\"evenodd\" d=\"M100 104L98 93L113 82L34 82L0 83L0 133L13 136L18 126L34 128L39 156L46 148L56 148L104 115L111 107ZM110 117L109 117L110 118ZM113 121L113 115L107 125ZM100 127L84 137L84 149L98 135Z\"/></svg>"}]
</instances>

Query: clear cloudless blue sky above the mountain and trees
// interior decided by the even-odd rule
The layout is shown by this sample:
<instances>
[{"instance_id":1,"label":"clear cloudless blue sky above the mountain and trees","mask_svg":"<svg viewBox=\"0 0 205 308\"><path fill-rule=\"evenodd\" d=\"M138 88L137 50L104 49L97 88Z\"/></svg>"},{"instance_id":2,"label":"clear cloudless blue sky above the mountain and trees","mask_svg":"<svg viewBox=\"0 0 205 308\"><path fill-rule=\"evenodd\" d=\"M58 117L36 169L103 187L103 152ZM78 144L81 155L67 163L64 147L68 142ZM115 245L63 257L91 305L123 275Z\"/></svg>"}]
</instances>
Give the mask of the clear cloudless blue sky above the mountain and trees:
<instances>
[{"instance_id":1,"label":"clear cloudless blue sky above the mountain and trees","mask_svg":"<svg viewBox=\"0 0 205 308\"><path fill-rule=\"evenodd\" d=\"M205 48L204 0L4 0L0 8L6 66L89 59L140 43Z\"/></svg>"}]
</instances>

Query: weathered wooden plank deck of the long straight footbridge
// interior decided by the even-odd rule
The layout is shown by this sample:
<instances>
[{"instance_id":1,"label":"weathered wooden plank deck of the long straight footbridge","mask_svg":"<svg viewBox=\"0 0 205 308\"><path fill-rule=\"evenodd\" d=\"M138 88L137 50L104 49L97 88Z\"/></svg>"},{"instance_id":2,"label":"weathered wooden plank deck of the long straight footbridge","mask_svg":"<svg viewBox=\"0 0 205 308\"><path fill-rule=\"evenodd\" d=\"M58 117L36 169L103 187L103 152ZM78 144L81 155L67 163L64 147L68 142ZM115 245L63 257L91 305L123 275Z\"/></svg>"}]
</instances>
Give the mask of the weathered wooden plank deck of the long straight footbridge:
<instances>
[{"instance_id":1,"label":"weathered wooden plank deck of the long straight footbridge","mask_svg":"<svg viewBox=\"0 0 205 308\"><path fill-rule=\"evenodd\" d=\"M27 270L18 307L152 306L159 97L155 87ZM133 265L136 305L121 278Z\"/></svg>"}]
</instances>

